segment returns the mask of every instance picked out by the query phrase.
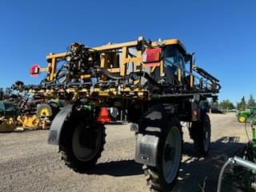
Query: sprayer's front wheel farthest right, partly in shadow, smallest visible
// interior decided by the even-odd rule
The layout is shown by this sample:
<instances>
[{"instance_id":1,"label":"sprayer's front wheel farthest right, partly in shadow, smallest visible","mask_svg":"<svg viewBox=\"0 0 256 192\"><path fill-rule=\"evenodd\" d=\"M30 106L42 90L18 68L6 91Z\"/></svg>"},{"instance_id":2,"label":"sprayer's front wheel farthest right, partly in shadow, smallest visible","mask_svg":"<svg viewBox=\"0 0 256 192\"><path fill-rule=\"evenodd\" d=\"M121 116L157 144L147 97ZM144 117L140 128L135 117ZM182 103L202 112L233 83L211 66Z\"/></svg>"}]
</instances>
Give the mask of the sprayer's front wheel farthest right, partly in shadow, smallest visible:
<instances>
[{"instance_id":1,"label":"sprayer's front wheel farthest right, partly in shadow, smallest visible","mask_svg":"<svg viewBox=\"0 0 256 192\"><path fill-rule=\"evenodd\" d=\"M210 118L205 114L200 122L192 122L191 132L197 156L206 157L210 150Z\"/></svg>"}]
</instances>

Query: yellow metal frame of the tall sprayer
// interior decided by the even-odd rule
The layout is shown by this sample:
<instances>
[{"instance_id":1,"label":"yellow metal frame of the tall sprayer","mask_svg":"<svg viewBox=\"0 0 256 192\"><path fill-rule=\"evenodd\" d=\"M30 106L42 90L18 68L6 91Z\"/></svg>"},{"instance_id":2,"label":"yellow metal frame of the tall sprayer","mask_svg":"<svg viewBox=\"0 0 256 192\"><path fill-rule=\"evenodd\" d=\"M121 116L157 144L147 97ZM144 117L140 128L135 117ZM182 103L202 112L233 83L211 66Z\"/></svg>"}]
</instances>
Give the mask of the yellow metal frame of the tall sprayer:
<instances>
[{"instance_id":1,"label":"yellow metal frame of the tall sprayer","mask_svg":"<svg viewBox=\"0 0 256 192\"><path fill-rule=\"evenodd\" d=\"M138 38L137 41L132 41L132 42L122 42L122 43L117 43L117 44L107 44L104 46L96 46L96 47L92 47L92 49L94 50L98 50L98 51L107 51L107 50L122 50L122 58L121 58L121 63L119 64L119 67L116 68L109 68L107 66L107 62L106 62L106 56L104 54L101 54L101 63L100 66L102 68L105 68L106 70L110 71L111 73L114 74L118 74L120 76L125 76L126 75L126 65L129 62L133 62L134 63L134 69L135 71L141 71L142 70L142 66L144 65L142 63L142 51L138 50L137 51L137 55L136 57L133 58L129 58L128 57L128 50L130 47L136 47L138 45L140 45L141 43L145 42L144 38ZM163 46L163 45L178 45L180 46L180 48L182 50L184 50L186 52L185 47L182 45L182 42L180 42L178 39L174 38L174 39L166 39L163 41L158 41L158 42L150 42L146 44L146 46L149 47L158 47L158 46ZM58 63L58 59L61 58L65 58L66 56L66 52L63 53L59 53L59 54L48 54L46 56L46 60L48 62L47 67L44 68L39 68L39 72L46 72L47 73L47 77L46 80L47 81L52 81L54 80L54 78L56 78L56 73L57 73L57 63ZM192 69L193 64L190 63L190 69ZM159 66L151 66L150 71L154 72L154 70L156 69L156 67L160 67L160 77L165 75L165 71L164 71L164 62L160 61L160 65ZM178 82L182 81L182 70L180 67L178 67ZM82 74L80 75L81 79L85 79L85 78L90 78L90 74ZM192 70L190 70L190 87L193 88L194 87L194 75L192 74ZM74 95L74 98L76 98L76 96L78 94L83 94L86 95L86 97L90 96L90 91L91 90L86 90L86 89L82 89L82 90L75 90L75 89L69 89L69 90L58 90L58 93L63 92L63 94L65 92L70 92ZM127 92L131 93L133 92L134 95L136 95L138 98L149 98L148 92L146 90L141 90L141 89L136 89L131 91L129 88L124 88L122 90L123 92ZM40 90L40 91L32 91L32 92L39 92L41 94L44 94L45 96L49 96L49 97L53 97L54 93L56 92L56 90ZM114 89L108 89L108 90L99 90L97 88L94 88L94 93L98 93L98 96L102 96L102 97L118 97L118 91L114 90Z\"/></svg>"}]
</instances>

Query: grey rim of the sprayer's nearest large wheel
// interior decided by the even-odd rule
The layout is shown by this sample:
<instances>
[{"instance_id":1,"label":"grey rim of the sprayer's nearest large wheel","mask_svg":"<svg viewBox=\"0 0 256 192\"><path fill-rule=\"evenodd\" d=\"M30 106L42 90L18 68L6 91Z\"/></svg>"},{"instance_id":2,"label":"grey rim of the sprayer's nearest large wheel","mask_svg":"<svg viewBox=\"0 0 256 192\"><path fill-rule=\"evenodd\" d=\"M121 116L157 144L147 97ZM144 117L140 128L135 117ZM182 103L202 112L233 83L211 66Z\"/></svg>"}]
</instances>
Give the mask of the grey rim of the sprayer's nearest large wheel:
<instances>
[{"instance_id":1,"label":"grey rim of the sprayer's nearest large wheel","mask_svg":"<svg viewBox=\"0 0 256 192\"><path fill-rule=\"evenodd\" d=\"M164 146L164 158L162 159L163 175L167 183L173 182L178 173L180 157L182 154L181 133L177 126L173 126Z\"/></svg>"}]
</instances>

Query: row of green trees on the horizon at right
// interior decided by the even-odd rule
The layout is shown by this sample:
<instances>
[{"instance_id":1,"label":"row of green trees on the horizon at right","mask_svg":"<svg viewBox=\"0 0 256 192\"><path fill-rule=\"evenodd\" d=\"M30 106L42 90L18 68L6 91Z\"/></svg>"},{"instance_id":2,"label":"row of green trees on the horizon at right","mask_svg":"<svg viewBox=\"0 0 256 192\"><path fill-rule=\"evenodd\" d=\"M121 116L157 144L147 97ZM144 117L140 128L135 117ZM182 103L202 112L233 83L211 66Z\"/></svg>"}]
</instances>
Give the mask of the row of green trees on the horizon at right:
<instances>
[{"instance_id":1,"label":"row of green trees on the horizon at right","mask_svg":"<svg viewBox=\"0 0 256 192\"><path fill-rule=\"evenodd\" d=\"M237 109L237 110L245 110L250 108L251 106L256 106L256 102L254 99L253 94L250 94L249 99L246 101L246 98L243 96L241 98L241 101L237 103L236 106L234 106L233 102L230 102L229 99L224 99L222 102L215 102L212 103L211 105L214 108L218 108L220 110L232 110L232 109Z\"/></svg>"}]
</instances>

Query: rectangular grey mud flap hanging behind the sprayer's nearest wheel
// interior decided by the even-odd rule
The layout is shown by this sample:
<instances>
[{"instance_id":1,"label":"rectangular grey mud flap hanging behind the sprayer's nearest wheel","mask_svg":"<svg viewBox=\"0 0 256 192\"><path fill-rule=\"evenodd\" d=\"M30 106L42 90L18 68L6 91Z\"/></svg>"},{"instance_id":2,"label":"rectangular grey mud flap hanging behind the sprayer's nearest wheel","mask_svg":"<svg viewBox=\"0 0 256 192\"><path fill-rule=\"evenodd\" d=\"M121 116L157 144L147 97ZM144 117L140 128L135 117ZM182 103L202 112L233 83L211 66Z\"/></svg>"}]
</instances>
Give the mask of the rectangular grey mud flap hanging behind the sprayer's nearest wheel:
<instances>
[{"instance_id":1,"label":"rectangular grey mud flap hanging behind the sprayer's nearest wheel","mask_svg":"<svg viewBox=\"0 0 256 192\"><path fill-rule=\"evenodd\" d=\"M138 134L135 150L135 162L148 166L157 165L158 141L156 135Z\"/></svg>"}]
</instances>

